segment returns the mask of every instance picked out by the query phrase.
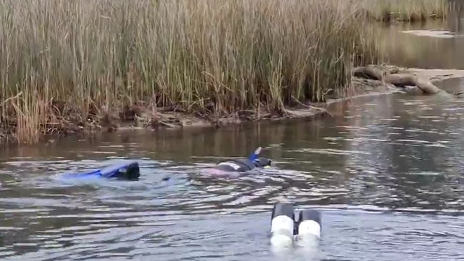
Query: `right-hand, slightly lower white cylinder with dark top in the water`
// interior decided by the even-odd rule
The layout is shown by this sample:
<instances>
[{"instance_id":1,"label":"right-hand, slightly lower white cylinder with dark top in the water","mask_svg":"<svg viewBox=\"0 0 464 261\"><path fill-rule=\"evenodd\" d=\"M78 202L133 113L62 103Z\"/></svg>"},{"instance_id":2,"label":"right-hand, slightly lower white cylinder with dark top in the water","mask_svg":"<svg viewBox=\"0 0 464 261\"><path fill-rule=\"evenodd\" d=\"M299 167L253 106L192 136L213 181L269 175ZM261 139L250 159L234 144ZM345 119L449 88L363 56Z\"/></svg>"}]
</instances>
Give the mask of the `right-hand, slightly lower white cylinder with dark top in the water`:
<instances>
[{"instance_id":1,"label":"right-hand, slightly lower white cylinder with dark top in the water","mask_svg":"<svg viewBox=\"0 0 464 261\"><path fill-rule=\"evenodd\" d=\"M321 240L321 213L318 210L302 210L297 225L297 245L317 246Z\"/></svg>"}]
</instances>

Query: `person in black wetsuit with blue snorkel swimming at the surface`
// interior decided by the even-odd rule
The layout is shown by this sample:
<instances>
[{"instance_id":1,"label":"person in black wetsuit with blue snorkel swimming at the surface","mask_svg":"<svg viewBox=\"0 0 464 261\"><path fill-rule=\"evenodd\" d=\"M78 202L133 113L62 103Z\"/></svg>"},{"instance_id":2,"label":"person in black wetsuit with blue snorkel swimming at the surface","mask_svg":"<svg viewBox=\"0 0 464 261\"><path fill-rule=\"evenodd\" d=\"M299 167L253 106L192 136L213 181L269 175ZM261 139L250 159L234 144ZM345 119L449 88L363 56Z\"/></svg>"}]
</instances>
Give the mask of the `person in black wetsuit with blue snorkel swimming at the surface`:
<instances>
[{"instance_id":1,"label":"person in black wetsuit with blue snorkel swimming at the surface","mask_svg":"<svg viewBox=\"0 0 464 261\"><path fill-rule=\"evenodd\" d=\"M245 160L224 160L218 163L213 168L216 170L232 171L232 172L246 172L254 168L267 168L271 166L272 160L260 157L258 154L261 152L259 147L251 156Z\"/></svg>"}]
</instances>

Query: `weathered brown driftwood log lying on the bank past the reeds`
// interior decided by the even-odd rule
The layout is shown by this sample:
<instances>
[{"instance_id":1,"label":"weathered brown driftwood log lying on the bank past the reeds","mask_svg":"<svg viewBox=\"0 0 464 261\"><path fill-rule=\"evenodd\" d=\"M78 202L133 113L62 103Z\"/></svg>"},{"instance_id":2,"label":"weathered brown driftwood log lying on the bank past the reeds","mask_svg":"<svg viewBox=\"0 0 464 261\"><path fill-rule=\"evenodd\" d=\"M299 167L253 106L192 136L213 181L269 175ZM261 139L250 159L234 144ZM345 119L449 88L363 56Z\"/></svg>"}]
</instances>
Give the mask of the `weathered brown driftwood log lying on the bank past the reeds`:
<instances>
[{"instance_id":1,"label":"weathered brown driftwood log lying on the bank past the reeds","mask_svg":"<svg viewBox=\"0 0 464 261\"><path fill-rule=\"evenodd\" d=\"M354 76L384 81L385 83L390 83L397 87L415 86L424 94L433 95L443 92L443 90L430 81L420 78L415 74L398 72L398 68L384 69L371 64L365 67L355 68Z\"/></svg>"}]
</instances>

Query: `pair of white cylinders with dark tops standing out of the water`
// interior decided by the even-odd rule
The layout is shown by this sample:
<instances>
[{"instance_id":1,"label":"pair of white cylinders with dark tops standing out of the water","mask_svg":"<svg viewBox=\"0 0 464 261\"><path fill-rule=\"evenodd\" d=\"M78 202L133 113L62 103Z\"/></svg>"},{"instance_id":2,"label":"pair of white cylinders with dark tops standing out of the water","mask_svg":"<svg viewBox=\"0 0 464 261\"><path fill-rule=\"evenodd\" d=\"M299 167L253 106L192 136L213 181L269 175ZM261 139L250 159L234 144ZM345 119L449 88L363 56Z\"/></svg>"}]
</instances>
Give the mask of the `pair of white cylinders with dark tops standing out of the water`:
<instances>
[{"instance_id":1,"label":"pair of white cylinders with dark tops standing out of the water","mask_svg":"<svg viewBox=\"0 0 464 261\"><path fill-rule=\"evenodd\" d=\"M292 204L277 203L271 214L271 245L290 247L294 240L299 246L317 246L321 240L321 213L301 210L295 220Z\"/></svg>"}]
</instances>

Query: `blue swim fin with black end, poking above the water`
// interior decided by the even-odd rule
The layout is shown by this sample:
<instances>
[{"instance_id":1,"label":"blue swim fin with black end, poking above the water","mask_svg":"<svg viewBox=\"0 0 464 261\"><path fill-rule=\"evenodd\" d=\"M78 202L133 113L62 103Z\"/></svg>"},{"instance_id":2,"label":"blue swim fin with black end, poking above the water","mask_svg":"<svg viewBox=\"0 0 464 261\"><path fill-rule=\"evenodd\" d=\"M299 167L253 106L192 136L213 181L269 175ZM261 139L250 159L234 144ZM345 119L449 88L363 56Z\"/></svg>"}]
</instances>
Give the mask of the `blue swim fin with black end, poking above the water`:
<instances>
[{"instance_id":1,"label":"blue swim fin with black end, poking above the water","mask_svg":"<svg viewBox=\"0 0 464 261\"><path fill-rule=\"evenodd\" d=\"M116 178L121 180L138 180L140 168L138 162L129 161L115 163L99 170L91 170L82 173L66 173L62 178Z\"/></svg>"}]
</instances>

